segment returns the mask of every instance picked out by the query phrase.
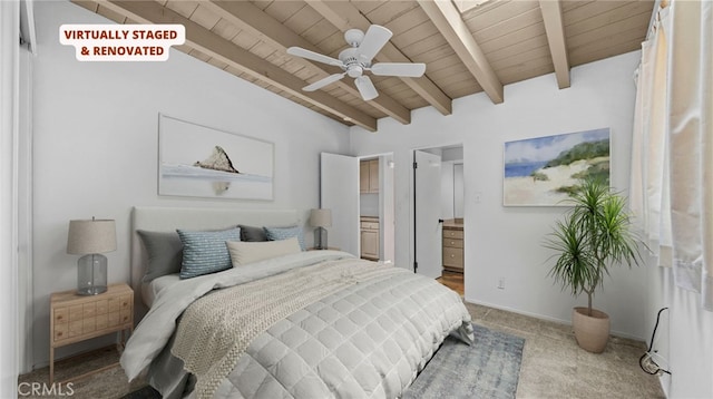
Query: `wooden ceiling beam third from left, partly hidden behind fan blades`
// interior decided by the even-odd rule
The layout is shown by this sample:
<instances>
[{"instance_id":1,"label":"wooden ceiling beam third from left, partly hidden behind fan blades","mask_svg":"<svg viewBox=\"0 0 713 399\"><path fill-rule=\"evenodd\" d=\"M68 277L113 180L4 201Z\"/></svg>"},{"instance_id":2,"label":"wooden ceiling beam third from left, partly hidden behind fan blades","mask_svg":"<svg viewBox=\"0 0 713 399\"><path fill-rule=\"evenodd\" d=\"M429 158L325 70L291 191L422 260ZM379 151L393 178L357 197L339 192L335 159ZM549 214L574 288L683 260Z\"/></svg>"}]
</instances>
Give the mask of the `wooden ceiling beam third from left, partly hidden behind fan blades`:
<instances>
[{"instance_id":1,"label":"wooden ceiling beam third from left, partly hidden behind fan blades","mask_svg":"<svg viewBox=\"0 0 713 399\"><path fill-rule=\"evenodd\" d=\"M348 1L306 0L306 3L341 31L351 28L367 31L371 26L371 21ZM412 62L391 41L379 51L374 59L379 62ZM452 113L452 100L428 76L400 79L441 114L450 115Z\"/></svg>"}]
</instances>

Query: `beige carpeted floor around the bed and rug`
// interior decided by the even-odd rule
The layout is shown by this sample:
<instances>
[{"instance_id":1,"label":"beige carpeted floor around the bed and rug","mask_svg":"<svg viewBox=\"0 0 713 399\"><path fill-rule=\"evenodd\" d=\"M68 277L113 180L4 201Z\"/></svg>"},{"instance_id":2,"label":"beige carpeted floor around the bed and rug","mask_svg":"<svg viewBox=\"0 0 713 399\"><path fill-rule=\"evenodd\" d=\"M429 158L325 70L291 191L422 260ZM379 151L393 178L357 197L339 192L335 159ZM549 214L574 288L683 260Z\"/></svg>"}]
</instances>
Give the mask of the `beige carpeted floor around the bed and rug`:
<instances>
[{"instance_id":1,"label":"beige carpeted floor around the bed and rug","mask_svg":"<svg viewBox=\"0 0 713 399\"><path fill-rule=\"evenodd\" d=\"M467 308L473 323L525 338L517 398L665 398L658 379L638 367L638 358L645 351L644 342L612 337L604 353L593 354L577 347L570 325L470 303ZM117 358L116 350L109 348L60 361L57 378L61 380L97 369ZM42 368L21 376L19 382L47 382L47 374L48 368ZM460 383L460 380L453 381ZM71 397L117 399L144 386L144 381L128 383L121 369L114 368L75 381Z\"/></svg>"}]
</instances>

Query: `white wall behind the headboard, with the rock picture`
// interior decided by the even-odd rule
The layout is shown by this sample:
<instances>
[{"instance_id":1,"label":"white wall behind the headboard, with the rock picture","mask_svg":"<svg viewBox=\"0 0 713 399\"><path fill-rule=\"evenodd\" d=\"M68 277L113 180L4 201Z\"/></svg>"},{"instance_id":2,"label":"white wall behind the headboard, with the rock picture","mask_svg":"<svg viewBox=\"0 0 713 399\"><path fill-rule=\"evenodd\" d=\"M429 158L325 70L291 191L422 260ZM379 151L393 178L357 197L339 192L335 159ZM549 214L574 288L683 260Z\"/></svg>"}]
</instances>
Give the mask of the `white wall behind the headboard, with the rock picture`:
<instances>
[{"instance_id":1,"label":"white wall behind the headboard, with the rock picture","mask_svg":"<svg viewBox=\"0 0 713 399\"><path fill-rule=\"evenodd\" d=\"M33 343L41 366L49 295L76 284L77 256L65 251L69 220L116 220L109 282L128 282L131 206L307 212L319 205L320 152L344 153L349 138L345 126L179 51L166 62L79 62L59 43L59 26L111 22L65 1L37 2L36 16ZM158 196L158 113L274 142L274 201Z\"/></svg>"}]
</instances>

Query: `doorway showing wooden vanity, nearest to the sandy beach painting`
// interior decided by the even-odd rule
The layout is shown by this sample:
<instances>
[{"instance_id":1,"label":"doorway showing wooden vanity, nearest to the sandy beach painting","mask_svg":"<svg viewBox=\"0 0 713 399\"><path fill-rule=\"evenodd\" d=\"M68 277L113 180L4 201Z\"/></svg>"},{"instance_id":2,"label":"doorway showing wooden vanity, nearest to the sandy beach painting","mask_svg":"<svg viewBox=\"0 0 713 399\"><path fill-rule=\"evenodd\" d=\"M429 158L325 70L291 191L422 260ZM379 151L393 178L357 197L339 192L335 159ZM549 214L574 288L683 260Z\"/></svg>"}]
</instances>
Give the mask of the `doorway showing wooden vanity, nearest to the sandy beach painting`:
<instances>
[{"instance_id":1,"label":"doorway showing wooden vanity, nearest to the sandy beach painting","mask_svg":"<svg viewBox=\"0 0 713 399\"><path fill-rule=\"evenodd\" d=\"M462 145L413 150L414 271L465 292Z\"/></svg>"}]
</instances>

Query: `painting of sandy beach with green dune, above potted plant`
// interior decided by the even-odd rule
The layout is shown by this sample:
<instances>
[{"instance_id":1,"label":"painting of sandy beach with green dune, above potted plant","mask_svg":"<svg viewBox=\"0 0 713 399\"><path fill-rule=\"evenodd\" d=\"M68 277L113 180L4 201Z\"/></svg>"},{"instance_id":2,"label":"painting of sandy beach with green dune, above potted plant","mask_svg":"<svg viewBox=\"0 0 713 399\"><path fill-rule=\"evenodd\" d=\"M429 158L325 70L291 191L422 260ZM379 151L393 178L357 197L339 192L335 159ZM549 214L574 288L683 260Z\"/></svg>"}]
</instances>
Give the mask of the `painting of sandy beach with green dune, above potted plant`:
<instances>
[{"instance_id":1,"label":"painting of sandy beach with green dune, above potted plant","mask_svg":"<svg viewBox=\"0 0 713 399\"><path fill-rule=\"evenodd\" d=\"M505 143L502 205L567 206L582 178L609 182L609 129Z\"/></svg>"}]
</instances>

